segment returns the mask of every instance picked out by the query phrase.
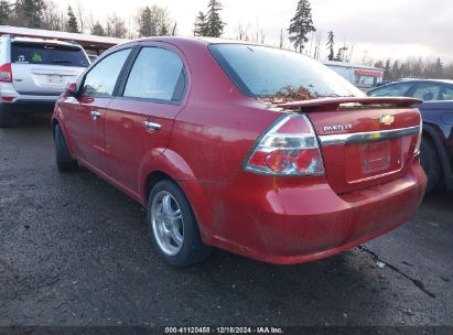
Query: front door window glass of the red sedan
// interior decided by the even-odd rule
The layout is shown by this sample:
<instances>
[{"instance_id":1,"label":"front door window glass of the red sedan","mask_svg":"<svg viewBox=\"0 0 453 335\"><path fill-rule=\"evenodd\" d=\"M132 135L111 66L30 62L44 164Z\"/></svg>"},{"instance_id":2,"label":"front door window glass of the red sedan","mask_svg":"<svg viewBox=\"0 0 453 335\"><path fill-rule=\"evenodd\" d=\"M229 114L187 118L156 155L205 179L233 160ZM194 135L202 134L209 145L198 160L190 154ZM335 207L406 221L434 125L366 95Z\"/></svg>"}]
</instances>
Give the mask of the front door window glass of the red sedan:
<instances>
[{"instance_id":1,"label":"front door window glass of the red sedan","mask_svg":"<svg viewBox=\"0 0 453 335\"><path fill-rule=\"evenodd\" d=\"M96 64L85 76L82 96L110 97L130 51L130 48L118 51Z\"/></svg>"}]
</instances>

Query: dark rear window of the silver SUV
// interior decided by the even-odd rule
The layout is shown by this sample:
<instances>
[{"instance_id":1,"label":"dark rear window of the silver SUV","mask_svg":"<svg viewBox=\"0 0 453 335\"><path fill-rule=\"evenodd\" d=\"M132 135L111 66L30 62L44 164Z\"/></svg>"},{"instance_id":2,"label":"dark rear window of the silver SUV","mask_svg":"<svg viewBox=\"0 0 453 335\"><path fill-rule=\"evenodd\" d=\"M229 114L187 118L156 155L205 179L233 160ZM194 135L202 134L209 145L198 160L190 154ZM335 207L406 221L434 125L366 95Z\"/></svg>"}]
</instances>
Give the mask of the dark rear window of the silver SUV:
<instances>
[{"instance_id":1,"label":"dark rear window of the silver SUV","mask_svg":"<svg viewBox=\"0 0 453 335\"><path fill-rule=\"evenodd\" d=\"M13 43L12 63L87 67L89 62L78 46Z\"/></svg>"}]
</instances>

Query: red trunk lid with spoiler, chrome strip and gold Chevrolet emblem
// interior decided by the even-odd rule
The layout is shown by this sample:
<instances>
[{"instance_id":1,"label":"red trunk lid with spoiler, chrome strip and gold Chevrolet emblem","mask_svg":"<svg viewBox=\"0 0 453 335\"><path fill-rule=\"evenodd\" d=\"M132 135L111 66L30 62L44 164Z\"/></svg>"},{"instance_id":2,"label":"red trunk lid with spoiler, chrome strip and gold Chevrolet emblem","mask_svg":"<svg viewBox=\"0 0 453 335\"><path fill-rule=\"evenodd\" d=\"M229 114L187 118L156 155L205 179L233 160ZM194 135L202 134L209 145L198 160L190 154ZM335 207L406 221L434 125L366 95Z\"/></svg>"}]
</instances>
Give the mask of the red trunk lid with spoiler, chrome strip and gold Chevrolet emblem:
<instances>
[{"instance_id":1,"label":"red trunk lid with spoiler, chrome strip and gold Chevrolet emblem","mask_svg":"<svg viewBox=\"0 0 453 335\"><path fill-rule=\"evenodd\" d=\"M382 184L412 162L421 118L410 98L328 98L279 105L300 109L320 139L325 173L337 194Z\"/></svg>"}]
</instances>

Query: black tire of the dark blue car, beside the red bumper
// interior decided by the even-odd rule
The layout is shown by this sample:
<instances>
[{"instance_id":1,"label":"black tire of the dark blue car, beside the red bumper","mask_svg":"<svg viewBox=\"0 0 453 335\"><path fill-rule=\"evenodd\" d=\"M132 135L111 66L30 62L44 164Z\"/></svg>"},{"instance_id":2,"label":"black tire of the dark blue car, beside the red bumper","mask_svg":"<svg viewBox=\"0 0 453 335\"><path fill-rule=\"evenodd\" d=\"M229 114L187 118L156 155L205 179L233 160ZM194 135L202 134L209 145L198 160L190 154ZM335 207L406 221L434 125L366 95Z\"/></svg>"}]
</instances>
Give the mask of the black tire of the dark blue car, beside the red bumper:
<instances>
[{"instance_id":1,"label":"black tire of the dark blue car, beside the red bumper","mask_svg":"<svg viewBox=\"0 0 453 335\"><path fill-rule=\"evenodd\" d=\"M442 172L435 147L432 141L425 137L422 138L420 144L420 162L428 176L425 192L428 194L439 184Z\"/></svg>"}]
</instances>

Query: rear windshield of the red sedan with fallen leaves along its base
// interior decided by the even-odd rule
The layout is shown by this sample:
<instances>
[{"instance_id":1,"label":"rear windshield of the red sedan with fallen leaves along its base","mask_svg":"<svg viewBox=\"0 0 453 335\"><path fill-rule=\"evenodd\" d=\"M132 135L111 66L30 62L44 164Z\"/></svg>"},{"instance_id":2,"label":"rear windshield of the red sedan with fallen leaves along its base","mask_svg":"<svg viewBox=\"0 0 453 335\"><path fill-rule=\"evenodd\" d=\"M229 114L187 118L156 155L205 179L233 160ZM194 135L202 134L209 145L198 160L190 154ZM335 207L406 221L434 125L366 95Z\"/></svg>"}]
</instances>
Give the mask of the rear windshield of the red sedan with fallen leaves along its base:
<instances>
[{"instance_id":1,"label":"rear windshield of the red sedan with fallen leaves along its base","mask_svg":"<svg viewBox=\"0 0 453 335\"><path fill-rule=\"evenodd\" d=\"M365 96L325 65L295 52L245 44L212 44L209 50L248 96L273 96L288 87L303 87L313 97Z\"/></svg>"}]
</instances>

